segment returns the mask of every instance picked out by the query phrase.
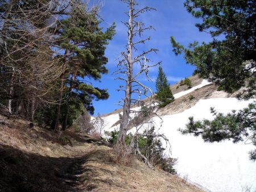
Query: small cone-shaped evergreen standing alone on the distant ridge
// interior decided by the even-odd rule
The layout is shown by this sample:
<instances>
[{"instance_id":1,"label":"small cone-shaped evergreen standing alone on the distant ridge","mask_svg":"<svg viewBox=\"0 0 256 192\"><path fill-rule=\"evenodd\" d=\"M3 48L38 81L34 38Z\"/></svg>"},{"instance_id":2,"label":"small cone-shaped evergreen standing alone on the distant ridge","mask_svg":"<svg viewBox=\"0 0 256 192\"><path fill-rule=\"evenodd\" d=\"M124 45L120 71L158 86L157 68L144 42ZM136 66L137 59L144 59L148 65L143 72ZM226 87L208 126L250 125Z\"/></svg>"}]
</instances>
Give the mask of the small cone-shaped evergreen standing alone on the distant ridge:
<instances>
[{"instance_id":1,"label":"small cone-shaped evergreen standing alone on the distant ridge","mask_svg":"<svg viewBox=\"0 0 256 192\"><path fill-rule=\"evenodd\" d=\"M159 107L164 107L174 101L174 95L170 89L170 84L167 82L166 74L159 66L158 78L156 78L156 95L155 98L160 102Z\"/></svg>"}]
</instances>

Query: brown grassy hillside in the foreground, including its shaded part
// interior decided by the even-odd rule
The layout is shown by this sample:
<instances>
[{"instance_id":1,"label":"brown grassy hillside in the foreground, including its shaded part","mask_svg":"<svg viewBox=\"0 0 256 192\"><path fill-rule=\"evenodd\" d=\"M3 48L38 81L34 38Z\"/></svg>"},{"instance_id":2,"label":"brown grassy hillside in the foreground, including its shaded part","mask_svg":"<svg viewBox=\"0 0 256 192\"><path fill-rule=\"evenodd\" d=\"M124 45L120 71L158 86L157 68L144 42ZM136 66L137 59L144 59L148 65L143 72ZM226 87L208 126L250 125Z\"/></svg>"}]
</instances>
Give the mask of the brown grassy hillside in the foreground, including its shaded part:
<instances>
[{"instance_id":1,"label":"brown grassy hillside in the foreground, including its shaded part","mask_svg":"<svg viewBox=\"0 0 256 192\"><path fill-rule=\"evenodd\" d=\"M29 123L0 115L0 191L201 191L139 161L115 164L91 137Z\"/></svg>"}]
</instances>

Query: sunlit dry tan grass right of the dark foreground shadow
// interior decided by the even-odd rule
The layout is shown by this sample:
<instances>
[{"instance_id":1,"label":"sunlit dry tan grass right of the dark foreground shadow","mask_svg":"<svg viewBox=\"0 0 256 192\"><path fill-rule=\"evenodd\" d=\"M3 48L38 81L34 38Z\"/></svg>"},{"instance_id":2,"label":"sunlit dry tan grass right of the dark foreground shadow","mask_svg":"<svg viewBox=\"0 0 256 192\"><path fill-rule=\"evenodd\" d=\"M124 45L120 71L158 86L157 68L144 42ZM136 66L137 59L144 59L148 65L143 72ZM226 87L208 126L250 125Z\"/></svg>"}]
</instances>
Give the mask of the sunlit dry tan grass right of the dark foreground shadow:
<instances>
[{"instance_id":1,"label":"sunlit dry tan grass right of the dark foreground shadow","mask_svg":"<svg viewBox=\"0 0 256 192\"><path fill-rule=\"evenodd\" d=\"M83 165L85 190L91 191L202 191L162 170L152 170L135 161L127 167L115 164L112 153L106 147L98 147ZM89 176L89 177L88 177ZM93 176L93 177L91 177Z\"/></svg>"}]
</instances>

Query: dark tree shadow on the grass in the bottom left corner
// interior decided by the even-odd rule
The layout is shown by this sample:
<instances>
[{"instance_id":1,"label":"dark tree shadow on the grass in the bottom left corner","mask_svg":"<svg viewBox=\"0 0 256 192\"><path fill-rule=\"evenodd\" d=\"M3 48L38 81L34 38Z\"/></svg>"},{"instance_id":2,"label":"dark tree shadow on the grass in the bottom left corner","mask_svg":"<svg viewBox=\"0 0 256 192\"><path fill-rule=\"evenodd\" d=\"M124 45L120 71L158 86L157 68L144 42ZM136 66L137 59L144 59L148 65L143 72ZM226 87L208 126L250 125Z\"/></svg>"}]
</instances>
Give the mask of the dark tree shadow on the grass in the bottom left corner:
<instances>
[{"instance_id":1,"label":"dark tree shadow on the grass in the bottom left corner","mask_svg":"<svg viewBox=\"0 0 256 192\"><path fill-rule=\"evenodd\" d=\"M0 191L79 191L86 158L54 158L0 145Z\"/></svg>"}]
</instances>

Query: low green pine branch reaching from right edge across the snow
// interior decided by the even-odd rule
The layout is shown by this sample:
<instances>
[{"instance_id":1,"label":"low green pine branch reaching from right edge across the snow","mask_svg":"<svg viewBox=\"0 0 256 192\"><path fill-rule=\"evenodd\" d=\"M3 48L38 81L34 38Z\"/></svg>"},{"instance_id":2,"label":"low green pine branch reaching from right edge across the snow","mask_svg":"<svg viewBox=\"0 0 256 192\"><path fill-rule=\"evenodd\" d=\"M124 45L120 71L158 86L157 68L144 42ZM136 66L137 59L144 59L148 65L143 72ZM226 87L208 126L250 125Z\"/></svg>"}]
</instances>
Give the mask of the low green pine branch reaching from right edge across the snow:
<instances>
[{"instance_id":1,"label":"low green pine branch reaching from right edge across the snow","mask_svg":"<svg viewBox=\"0 0 256 192\"><path fill-rule=\"evenodd\" d=\"M210 111L214 115L213 120L197 120L189 118L186 130L180 130L183 134L193 133L201 135L204 141L220 142L224 139L232 139L233 143L243 140L251 140L256 146L256 102L240 111L232 111L227 115L217 113L214 108ZM249 152L250 160L256 160L256 150Z\"/></svg>"}]
</instances>

